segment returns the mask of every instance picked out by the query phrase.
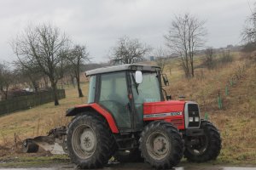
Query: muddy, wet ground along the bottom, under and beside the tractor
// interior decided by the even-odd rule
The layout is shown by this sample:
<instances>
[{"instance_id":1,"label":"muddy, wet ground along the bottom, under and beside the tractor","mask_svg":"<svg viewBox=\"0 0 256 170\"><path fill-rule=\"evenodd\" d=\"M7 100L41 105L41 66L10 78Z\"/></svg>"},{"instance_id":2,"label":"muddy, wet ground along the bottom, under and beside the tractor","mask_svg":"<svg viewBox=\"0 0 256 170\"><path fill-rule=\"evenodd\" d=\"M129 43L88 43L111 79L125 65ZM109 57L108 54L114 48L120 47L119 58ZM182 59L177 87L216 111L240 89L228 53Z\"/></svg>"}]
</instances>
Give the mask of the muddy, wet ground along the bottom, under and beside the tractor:
<instances>
[{"instance_id":1,"label":"muddy, wet ground along the bottom, under and beside the tractor","mask_svg":"<svg viewBox=\"0 0 256 170\"><path fill-rule=\"evenodd\" d=\"M20 145L20 144L18 144ZM53 156L49 152L39 150L38 153L25 154L18 146L0 146L0 169L15 170L71 170L79 169L70 162L68 156ZM111 161L101 170L153 170L147 163L119 163ZM210 161L207 163L191 163L182 160L173 170L256 170L256 165L224 164L224 162Z\"/></svg>"}]
</instances>

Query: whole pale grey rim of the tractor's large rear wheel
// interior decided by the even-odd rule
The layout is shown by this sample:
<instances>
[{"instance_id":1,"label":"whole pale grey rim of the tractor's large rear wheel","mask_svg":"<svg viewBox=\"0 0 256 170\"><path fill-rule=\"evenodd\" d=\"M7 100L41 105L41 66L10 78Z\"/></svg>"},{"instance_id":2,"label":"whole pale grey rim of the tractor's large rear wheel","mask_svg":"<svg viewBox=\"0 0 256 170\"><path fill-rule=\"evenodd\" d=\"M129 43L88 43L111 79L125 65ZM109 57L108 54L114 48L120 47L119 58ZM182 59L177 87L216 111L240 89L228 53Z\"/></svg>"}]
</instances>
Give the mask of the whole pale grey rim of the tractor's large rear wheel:
<instances>
[{"instance_id":1,"label":"whole pale grey rim of the tractor's large rear wheel","mask_svg":"<svg viewBox=\"0 0 256 170\"><path fill-rule=\"evenodd\" d=\"M88 159L96 150L96 134L92 128L81 125L74 129L72 146L76 155L82 159Z\"/></svg>"}]
</instances>

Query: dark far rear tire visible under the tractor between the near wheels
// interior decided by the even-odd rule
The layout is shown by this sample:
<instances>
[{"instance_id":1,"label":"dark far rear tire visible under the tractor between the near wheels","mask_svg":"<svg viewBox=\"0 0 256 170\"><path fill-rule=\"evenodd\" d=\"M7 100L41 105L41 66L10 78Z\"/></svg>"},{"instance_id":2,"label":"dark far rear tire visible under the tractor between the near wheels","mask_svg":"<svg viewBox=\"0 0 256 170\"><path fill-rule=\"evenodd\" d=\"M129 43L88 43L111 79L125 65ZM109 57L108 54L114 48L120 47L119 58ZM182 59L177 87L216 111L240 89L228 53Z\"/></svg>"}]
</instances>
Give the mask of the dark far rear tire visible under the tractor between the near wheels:
<instances>
[{"instance_id":1,"label":"dark far rear tire visible under the tractor between the near wheels","mask_svg":"<svg viewBox=\"0 0 256 170\"><path fill-rule=\"evenodd\" d=\"M128 152L129 151L129 152ZM143 162L144 159L141 156L141 151L137 149L134 150L117 151L113 157L119 162Z\"/></svg>"}]
</instances>

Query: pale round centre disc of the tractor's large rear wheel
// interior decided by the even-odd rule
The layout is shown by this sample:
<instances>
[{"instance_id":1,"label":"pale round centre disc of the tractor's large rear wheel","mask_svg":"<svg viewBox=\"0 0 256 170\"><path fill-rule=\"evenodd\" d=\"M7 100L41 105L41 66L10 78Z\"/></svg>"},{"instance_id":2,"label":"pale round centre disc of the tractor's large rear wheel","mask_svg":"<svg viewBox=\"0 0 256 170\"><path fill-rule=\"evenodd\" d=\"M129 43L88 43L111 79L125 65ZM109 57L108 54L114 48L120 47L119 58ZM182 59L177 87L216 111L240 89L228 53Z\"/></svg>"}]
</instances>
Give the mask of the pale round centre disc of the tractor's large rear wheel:
<instances>
[{"instance_id":1,"label":"pale round centre disc of the tractor's large rear wheel","mask_svg":"<svg viewBox=\"0 0 256 170\"><path fill-rule=\"evenodd\" d=\"M85 129L80 137L80 146L82 150L90 152L94 150L96 145L96 138L90 129Z\"/></svg>"}]
</instances>

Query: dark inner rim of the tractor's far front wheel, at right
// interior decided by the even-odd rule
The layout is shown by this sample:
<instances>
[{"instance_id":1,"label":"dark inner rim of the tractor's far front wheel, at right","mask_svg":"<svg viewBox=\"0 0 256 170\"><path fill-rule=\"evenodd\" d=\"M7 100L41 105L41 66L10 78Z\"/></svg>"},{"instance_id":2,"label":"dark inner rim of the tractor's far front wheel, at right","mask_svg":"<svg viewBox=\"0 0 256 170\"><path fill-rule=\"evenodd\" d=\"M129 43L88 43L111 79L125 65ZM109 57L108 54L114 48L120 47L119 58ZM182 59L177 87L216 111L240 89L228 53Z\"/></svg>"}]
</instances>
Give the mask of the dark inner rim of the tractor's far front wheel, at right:
<instances>
[{"instance_id":1,"label":"dark inner rim of the tractor's far front wheel, at right","mask_svg":"<svg viewBox=\"0 0 256 170\"><path fill-rule=\"evenodd\" d=\"M198 137L198 140L199 144L191 145L188 148L189 152L195 156L200 156L205 153L208 147L208 139L206 135Z\"/></svg>"}]
</instances>

